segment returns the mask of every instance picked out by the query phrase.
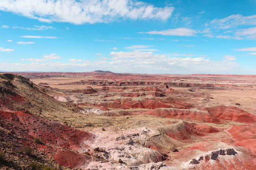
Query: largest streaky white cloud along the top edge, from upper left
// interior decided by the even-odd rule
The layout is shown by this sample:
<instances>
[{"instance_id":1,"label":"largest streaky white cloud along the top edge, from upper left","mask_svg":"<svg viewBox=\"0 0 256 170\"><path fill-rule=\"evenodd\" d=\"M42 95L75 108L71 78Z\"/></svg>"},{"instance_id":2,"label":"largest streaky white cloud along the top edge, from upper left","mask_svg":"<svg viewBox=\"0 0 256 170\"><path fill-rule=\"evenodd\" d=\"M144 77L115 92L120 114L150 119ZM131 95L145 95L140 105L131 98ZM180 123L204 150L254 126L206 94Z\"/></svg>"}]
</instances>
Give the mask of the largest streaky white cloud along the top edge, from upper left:
<instances>
[{"instance_id":1,"label":"largest streaky white cloud along the top edge, from upper left","mask_svg":"<svg viewBox=\"0 0 256 170\"><path fill-rule=\"evenodd\" d=\"M26 9L26 10L25 10ZM1 0L0 10L42 22L108 23L123 19L168 19L174 7L157 8L133 0Z\"/></svg>"}]
</instances>

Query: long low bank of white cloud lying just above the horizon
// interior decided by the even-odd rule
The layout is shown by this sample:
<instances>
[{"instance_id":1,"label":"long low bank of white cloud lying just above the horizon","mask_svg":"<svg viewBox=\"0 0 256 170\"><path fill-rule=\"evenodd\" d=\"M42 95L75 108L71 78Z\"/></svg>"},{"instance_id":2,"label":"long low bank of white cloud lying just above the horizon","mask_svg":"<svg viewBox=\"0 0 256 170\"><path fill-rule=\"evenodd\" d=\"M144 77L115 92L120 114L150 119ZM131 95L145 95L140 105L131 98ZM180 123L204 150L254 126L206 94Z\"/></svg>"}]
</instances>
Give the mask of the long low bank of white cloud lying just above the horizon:
<instances>
[{"instance_id":1,"label":"long low bank of white cloud lying just above the horizon","mask_svg":"<svg viewBox=\"0 0 256 170\"><path fill-rule=\"evenodd\" d=\"M188 54L189 55L189 54ZM74 71L109 70L113 72L168 73L168 74L243 74L244 70L236 62L205 59L204 57L169 57L155 55L153 52L111 52L110 58L87 60L79 63L42 63L31 64L0 63L7 71ZM154 69L152 69L154 68Z\"/></svg>"}]
</instances>

